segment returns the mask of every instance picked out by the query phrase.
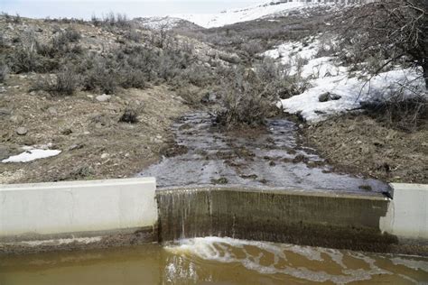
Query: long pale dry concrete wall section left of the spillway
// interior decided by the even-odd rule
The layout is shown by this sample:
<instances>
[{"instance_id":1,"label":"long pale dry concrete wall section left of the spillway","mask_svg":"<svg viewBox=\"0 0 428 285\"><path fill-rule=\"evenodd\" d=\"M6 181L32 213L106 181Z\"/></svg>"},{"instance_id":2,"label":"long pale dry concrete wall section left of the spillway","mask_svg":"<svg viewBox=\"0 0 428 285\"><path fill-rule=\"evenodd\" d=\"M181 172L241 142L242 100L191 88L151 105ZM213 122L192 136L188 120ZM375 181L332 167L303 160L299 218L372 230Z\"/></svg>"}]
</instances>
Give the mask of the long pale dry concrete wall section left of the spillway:
<instances>
[{"instance_id":1,"label":"long pale dry concrete wall section left of the spillway","mask_svg":"<svg viewBox=\"0 0 428 285\"><path fill-rule=\"evenodd\" d=\"M153 178L0 185L0 242L154 232L155 188Z\"/></svg>"}]
</instances>

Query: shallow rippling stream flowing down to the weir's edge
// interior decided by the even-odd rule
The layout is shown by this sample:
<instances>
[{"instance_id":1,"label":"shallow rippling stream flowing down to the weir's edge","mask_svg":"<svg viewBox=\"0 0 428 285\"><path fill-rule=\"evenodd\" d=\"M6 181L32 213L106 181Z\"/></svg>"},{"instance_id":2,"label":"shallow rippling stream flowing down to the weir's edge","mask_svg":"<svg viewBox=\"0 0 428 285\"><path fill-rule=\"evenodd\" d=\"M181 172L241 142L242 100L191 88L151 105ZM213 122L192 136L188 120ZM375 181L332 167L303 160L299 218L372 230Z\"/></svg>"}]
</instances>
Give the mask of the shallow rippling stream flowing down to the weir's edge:
<instances>
[{"instance_id":1,"label":"shallow rippling stream flowing down to the weir's edge","mask_svg":"<svg viewBox=\"0 0 428 285\"><path fill-rule=\"evenodd\" d=\"M313 149L298 145L296 125L267 121L265 132L220 132L209 113L185 115L173 125L176 142L187 152L138 174L154 176L161 188L239 185L256 188L323 188L374 194L388 190L376 179L333 173Z\"/></svg>"}]
</instances>

